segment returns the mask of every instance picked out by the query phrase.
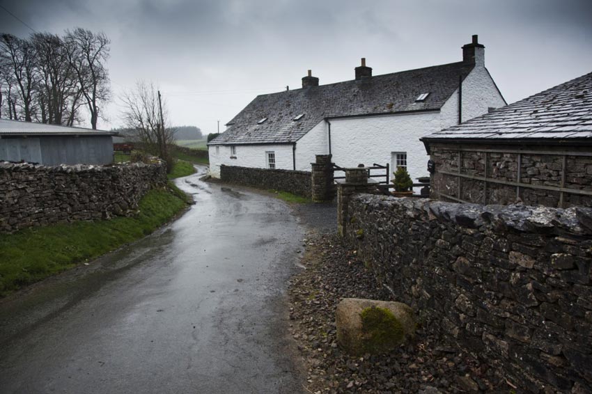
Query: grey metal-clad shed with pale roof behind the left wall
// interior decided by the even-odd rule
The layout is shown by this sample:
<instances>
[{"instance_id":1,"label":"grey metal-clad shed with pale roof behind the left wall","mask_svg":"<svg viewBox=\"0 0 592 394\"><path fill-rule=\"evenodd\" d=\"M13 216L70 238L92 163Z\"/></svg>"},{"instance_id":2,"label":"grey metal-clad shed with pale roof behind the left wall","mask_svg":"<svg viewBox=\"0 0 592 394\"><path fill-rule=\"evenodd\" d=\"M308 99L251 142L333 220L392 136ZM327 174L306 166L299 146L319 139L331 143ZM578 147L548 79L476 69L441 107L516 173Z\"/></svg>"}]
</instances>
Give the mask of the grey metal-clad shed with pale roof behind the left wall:
<instances>
[{"instance_id":1,"label":"grey metal-clad shed with pale roof behind the left wall","mask_svg":"<svg viewBox=\"0 0 592 394\"><path fill-rule=\"evenodd\" d=\"M0 161L110 164L116 132L0 119Z\"/></svg>"}]
</instances>

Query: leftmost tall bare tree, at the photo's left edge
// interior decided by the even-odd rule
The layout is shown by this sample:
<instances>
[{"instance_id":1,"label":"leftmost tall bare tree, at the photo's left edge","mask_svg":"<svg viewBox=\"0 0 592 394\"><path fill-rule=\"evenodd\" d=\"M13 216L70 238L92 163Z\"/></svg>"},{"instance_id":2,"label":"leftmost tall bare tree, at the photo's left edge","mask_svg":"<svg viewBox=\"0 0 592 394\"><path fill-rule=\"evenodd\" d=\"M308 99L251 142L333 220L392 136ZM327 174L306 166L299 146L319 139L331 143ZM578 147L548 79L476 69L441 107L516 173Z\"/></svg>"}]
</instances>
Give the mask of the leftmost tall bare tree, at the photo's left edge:
<instances>
[{"instance_id":1,"label":"leftmost tall bare tree, at the photo's left edge","mask_svg":"<svg viewBox=\"0 0 592 394\"><path fill-rule=\"evenodd\" d=\"M33 99L36 93L36 58L31 43L11 34L0 36L0 51L8 61L12 80L18 93L18 103L10 103L14 116L17 118L17 104L21 107L26 122L33 120L35 110Z\"/></svg>"}]
</instances>

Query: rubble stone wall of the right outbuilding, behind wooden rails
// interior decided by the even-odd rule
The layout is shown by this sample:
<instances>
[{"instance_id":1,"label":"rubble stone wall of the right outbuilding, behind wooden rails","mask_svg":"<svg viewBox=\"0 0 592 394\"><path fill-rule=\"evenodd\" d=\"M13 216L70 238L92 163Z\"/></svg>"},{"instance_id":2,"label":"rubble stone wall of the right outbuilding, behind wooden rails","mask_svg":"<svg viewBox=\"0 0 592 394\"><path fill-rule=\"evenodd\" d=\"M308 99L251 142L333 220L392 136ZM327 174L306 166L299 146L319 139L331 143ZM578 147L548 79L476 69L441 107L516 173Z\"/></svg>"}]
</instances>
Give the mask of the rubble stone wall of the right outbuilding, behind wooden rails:
<instances>
[{"instance_id":1,"label":"rubble stone wall of the right outbuilding, behind wooden rails","mask_svg":"<svg viewBox=\"0 0 592 394\"><path fill-rule=\"evenodd\" d=\"M517 201L515 186L488 182L485 187L483 180L462 178L459 188L458 177L442 173L442 171L458 173L459 155L462 155L460 157L461 174L483 178L487 173L487 178L491 180L520 181L520 183L524 184L523 187L520 187L520 200L526 205L559 207L561 200L559 191L533 189L529 188L529 185L554 188L566 187L567 189L588 191L592 194L592 157L589 155L590 148L561 148L561 150L569 150L573 153L566 156L566 173L564 176L562 176L563 156L558 155L560 150L557 150L557 148L543 147L540 148L540 153L522 153L520 159L518 159L516 152L488 152L487 154L478 152L479 149L490 148L485 146L467 145L465 147L463 145L463 148L467 150L459 153L458 145L430 144L430 157L436 164L436 173L432 177L434 198L446 200L442 195L447 195L469 203L503 205ZM474 151L471 151L472 149ZM555 152L553 149L555 149ZM504 149L500 148L499 150ZM578 150L582 151L582 155L577 155ZM551 152L554 152L554 154L550 154ZM520 180L518 180L519 162ZM592 207L592 195L563 194L563 207L578 205Z\"/></svg>"}]
</instances>

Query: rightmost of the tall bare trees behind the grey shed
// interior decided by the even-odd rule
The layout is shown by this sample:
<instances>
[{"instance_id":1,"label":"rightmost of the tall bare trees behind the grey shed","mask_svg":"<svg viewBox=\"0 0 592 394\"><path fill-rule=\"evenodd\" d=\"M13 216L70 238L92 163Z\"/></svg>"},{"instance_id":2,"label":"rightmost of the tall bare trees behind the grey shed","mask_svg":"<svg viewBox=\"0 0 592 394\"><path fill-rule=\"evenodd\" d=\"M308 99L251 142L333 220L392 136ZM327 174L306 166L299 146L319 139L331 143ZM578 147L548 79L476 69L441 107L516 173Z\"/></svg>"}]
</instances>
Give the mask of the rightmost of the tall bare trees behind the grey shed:
<instances>
[{"instance_id":1,"label":"rightmost of the tall bare trees behind the grey shed","mask_svg":"<svg viewBox=\"0 0 592 394\"><path fill-rule=\"evenodd\" d=\"M74 70L82 97L91 116L91 127L97 128L99 105L109 100L109 73L105 62L109 58L110 40L104 33L77 28L66 31L65 50Z\"/></svg>"}]
</instances>

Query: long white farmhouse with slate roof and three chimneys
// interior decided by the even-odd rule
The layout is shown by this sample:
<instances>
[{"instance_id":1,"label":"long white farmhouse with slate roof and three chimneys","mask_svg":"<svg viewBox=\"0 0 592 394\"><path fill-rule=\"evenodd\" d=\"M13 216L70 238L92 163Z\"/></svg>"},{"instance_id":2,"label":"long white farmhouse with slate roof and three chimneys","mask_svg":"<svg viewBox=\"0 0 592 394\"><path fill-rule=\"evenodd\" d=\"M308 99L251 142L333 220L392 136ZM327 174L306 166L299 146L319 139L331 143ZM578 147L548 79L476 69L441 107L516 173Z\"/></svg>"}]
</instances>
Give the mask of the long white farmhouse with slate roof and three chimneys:
<instances>
[{"instance_id":1,"label":"long white farmhouse with slate roof and three chimneys","mask_svg":"<svg viewBox=\"0 0 592 394\"><path fill-rule=\"evenodd\" d=\"M310 170L315 155L338 166L374 163L407 166L412 178L428 175L421 136L506 105L485 68L485 47L473 36L462 61L372 75L364 58L355 79L259 95L208 144L210 173L220 166Z\"/></svg>"}]
</instances>

